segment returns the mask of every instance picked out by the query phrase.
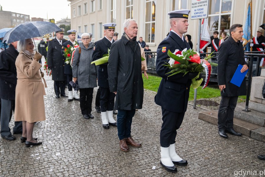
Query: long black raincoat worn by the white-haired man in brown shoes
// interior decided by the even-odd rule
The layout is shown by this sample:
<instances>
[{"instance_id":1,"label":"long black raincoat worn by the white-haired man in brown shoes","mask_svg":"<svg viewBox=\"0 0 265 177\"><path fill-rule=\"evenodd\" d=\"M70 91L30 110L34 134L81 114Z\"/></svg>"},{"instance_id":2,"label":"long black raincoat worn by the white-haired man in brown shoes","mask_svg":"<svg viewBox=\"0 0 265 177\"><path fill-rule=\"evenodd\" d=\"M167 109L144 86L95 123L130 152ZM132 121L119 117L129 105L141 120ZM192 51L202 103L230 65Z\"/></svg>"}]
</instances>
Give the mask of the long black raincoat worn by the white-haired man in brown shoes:
<instances>
[{"instance_id":1,"label":"long black raincoat worn by the white-haired man in brown shoes","mask_svg":"<svg viewBox=\"0 0 265 177\"><path fill-rule=\"evenodd\" d=\"M135 41L134 51L124 36L111 45L108 64L110 92L116 92L115 110L142 109L143 78L141 50Z\"/></svg>"}]
</instances>

